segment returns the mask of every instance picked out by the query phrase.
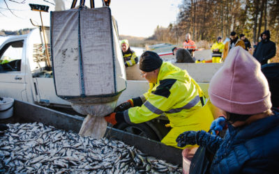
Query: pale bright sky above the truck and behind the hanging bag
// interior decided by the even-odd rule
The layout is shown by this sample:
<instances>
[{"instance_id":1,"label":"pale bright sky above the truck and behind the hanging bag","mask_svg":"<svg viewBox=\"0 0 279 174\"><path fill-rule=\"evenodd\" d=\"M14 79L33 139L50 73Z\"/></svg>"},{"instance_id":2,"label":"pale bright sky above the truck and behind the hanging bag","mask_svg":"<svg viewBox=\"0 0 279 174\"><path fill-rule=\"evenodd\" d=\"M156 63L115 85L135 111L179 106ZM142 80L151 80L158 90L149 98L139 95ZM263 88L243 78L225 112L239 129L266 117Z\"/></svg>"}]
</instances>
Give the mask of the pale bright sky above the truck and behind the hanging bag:
<instances>
[{"instance_id":1,"label":"pale bright sky above the truck and behind the hanging bag","mask_svg":"<svg viewBox=\"0 0 279 174\"><path fill-rule=\"evenodd\" d=\"M22 2L24 0L13 0ZM33 27L29 19L40 24L40 14L30 10L29 3L37 3L50 6L54 10L54 0L25 0L25 3L15 3L6 0L9 8L17 15L13 15L6 8L6 3L0 0L0 30L17 30ZM63 0L66 8L70 8L72 0ZM85 1L86 6L89 0ZM77 1L80 3L80 1ZM96 7L101 6L101 0L95 0ZM116 18L119 26L119 34L133 35L138 37L149 37L153 34L156 26L167 27L170 22L176 21L181 0L112 0L110 8L112 15ZM42 13L43 23L50 25L50 13Z\"/></svg>"}]
</instances>

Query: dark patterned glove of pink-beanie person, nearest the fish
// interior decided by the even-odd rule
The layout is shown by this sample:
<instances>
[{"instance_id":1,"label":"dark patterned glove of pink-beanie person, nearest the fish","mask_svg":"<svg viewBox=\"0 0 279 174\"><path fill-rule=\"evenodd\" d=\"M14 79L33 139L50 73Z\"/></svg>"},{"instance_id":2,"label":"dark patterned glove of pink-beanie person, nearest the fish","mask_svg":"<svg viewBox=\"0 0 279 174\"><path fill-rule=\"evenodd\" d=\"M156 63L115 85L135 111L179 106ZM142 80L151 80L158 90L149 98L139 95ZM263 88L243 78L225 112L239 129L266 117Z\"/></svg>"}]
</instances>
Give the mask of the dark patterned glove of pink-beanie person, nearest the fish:
<instances>
[{"instance_id":1,"label":"dark patterned glove of pink-beanie person, nearest the fish","mask_svg":"<svg viewBox=\"0 0 279 174\"><path fill-rule=\"evenodd\" d=\"M199 131L186 131L180 134L177 139L177 146L180 148L183 148L185 145L195 145L196 144L196 139L199 136Z\"/></svg>"}]
</instances>

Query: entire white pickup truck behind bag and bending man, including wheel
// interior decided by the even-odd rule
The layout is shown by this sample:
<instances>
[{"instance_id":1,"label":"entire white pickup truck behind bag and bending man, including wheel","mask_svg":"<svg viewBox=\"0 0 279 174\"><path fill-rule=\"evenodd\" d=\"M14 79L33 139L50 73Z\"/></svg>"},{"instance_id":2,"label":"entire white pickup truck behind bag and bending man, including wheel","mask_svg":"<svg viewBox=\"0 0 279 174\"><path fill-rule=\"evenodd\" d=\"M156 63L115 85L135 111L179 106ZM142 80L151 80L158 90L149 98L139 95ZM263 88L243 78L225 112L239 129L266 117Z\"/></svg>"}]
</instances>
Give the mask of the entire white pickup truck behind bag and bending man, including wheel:
<instances>
[{"instance_id":1,"label":"entire white pickup truck behind bag and bending man, including wheel","mask_svg":"<svg viewBox=\"0 0 279 174\"><path fill-rule=\"evenodd\" d=\"M46 35L50 40L49 30L46 30ZM40 28L33 29L27 35L0 38L0 97L13 97L32 104L70 109L69 102L56 96L52 68L47 66L43 38ZM209 81L222 63L176 63L176 65L187 70L207 95ZM149 88L148 82L140 77L138 64L126 68L126 76L127 88L119 97L118 104L142 95ZM116 128L160 140L167 134L164 127L166 119L161 116L142 124L116 125Z\"/></svg>"}]
</instances>

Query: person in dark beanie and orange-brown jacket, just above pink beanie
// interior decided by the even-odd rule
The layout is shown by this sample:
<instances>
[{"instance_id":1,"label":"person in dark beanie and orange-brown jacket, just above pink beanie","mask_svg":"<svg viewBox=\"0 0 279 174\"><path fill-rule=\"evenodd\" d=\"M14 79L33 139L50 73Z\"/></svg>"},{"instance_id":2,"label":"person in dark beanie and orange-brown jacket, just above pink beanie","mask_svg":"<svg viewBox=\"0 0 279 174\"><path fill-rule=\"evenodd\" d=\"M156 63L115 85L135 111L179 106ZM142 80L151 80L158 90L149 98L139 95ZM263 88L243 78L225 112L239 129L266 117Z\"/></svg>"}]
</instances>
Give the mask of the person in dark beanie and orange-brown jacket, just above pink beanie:
<instances>
[{"instance_id":1,"label":"person in dark beanie and orange-brown jacket, just above pink beanie","mask_svg":"<svg viewBox=\"0 0 279 174\"><path fill-rule=\"evenodd\" d=\"M226 42L224 47L223 61L225 61L229 50L237 46L243 47L243 49L245 49L245 43L243 40L239 39L239 37L236 35L236 32L232 31L229 35L229 42Z\"/></svg>"}]
</instances>

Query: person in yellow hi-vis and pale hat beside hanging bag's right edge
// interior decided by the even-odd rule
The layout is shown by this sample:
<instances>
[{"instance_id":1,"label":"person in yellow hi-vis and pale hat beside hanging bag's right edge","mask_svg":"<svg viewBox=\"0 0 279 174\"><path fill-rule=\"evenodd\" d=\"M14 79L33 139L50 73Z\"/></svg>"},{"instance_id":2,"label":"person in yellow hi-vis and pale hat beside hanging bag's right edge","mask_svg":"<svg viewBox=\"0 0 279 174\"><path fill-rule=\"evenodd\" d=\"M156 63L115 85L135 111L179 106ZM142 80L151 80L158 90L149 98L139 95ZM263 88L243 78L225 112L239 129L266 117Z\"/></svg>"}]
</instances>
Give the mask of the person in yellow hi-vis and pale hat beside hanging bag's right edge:
<instances>
[{"instance_id":1,"label":"person in yellow hi-vis and pale hat beside hanging bag's right edge","mask_svg":"<svg viewBox=\"0 0 279 174\"><path fill-rule=\"evenodd\" d=\"M120 45L125 66L128 67L137 64L139 59L137 58L135 52L132 49L130 49L128 40L121 40Z\"/></svg>"}]
</instances>

